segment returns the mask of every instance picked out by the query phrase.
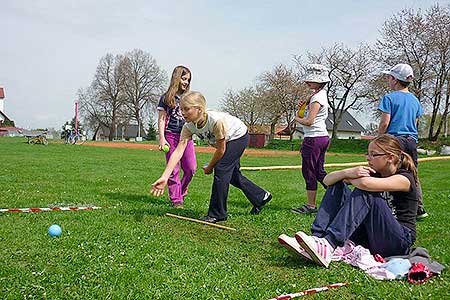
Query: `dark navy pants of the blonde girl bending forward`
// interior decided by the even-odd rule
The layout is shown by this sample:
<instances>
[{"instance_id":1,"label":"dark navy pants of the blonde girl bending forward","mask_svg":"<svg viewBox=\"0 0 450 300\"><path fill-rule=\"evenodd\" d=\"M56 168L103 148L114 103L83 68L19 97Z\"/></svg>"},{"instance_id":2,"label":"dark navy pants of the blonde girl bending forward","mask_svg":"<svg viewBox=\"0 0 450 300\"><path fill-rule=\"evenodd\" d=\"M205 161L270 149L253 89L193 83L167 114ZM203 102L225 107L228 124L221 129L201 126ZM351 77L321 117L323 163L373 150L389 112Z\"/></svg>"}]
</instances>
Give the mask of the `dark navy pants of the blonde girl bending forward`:
<instances>
[{"instance_id":1,"label":"dark navy pants of the blonde girl bending forward","mask_svg":"<svg viewBox=\"0 0 450 300\"><path fill-rule=\"evenodd\" d=\"M244 192L253 206L260 207L266 191L242 175L241 156L248 145L248 133L243 137L227 142L225 153L214 167L214 181L209 202L208 216L217 219L227 218L227 199L230 183Z\"/></svg>"}]
</instances>

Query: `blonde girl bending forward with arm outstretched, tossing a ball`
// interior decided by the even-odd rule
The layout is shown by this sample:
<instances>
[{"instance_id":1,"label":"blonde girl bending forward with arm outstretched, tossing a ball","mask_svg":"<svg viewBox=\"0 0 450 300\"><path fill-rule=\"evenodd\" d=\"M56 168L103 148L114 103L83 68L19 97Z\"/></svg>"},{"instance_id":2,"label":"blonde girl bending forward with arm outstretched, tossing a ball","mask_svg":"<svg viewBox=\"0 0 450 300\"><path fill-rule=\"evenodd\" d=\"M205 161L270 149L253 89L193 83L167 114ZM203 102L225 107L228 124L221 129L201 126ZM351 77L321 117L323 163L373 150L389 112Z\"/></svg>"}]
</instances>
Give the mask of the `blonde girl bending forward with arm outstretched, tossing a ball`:
<instances>
[{"instance_id":1,"label":"blonde girl bending forward with arm outstretched, tossing a ball","mask_svg":"<svg viewBox=\"0 0 450 300\"><path fill-rule=\"evenodd\" d=\"M214 181L208 214L200 220L209 223L227 219L227 198L230 183L241 189L253 204L251 214L259 214L272 195L247 179L240 171L240 158L248 145L247 126L227 113L206 110L206 100L199 92L188 92L180 100L186 123L180 141L172 153L161 177L152 184L151 193L161 196L170 173L179 162L186 145L195 134L216 148L210 162L203 166L205 174L214 171Z\"/></svg>"}]
</instances>

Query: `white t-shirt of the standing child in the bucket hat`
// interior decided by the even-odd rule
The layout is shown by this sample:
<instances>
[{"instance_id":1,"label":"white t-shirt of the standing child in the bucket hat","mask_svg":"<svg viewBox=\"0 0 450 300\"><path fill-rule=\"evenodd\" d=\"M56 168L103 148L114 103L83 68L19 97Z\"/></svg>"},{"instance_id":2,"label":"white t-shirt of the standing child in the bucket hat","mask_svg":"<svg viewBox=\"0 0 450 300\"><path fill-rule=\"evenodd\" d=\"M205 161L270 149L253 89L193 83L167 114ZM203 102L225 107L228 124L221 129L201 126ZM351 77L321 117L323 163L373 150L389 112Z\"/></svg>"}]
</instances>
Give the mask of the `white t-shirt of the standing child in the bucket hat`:
<instances>
[{"instance_id":1,"label":"white t-shirt of the standing child in the bucket hat","mask_svg":"<svg viewBox=\"0 0 450 300\"><path fill-rule=\"evenodd\" d=\"M320 104L319 112L314 118L314 123L311 126L303 126L303 132L305 133L305 137L319 137L319 136L327 136L327 125L325 123L328 118L328 98L327 92L322 89L317 94L311 97L309 104L306 106L305 110L305 118L308 117L310 105L314 102Z\"/></svg>"}]
</instances>

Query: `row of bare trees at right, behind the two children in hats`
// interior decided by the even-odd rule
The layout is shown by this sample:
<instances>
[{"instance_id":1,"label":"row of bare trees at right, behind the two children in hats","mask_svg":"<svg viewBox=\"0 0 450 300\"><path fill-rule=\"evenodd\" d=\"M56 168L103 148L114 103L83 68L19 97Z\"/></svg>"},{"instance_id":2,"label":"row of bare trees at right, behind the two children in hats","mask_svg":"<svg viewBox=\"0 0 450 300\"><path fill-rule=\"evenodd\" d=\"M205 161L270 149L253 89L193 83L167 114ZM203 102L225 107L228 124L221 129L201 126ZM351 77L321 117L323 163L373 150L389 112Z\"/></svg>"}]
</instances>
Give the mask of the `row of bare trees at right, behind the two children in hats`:
<instances>
[{"instance_id":1,"label":"row of bare trees at right, behind the two children in hats","mask_svg":"<svg viewBox=\"0 0 450 300\"><path fill-rule=\"evenodd\" d=\"M318 52L294 55L291 65L280 64L263 72L254 86L227 91L222 109L240 117L250 128L271 124L273 135L275 125L281 122L288 124L292 133L298 99L308 97L302 78L305 67L311 63L330 69L332 137L337 137L339 123L348 110L376 116L376 107L388 92L381 71L397 63L408 63L415 71L411 91L427 113L423 122L428 139L436 140L446 131L450 105L450 6L434 5L425 12L400 11L383 23L374 45L361 43L352 48L334 44Z\"/></svg>"}]
</instances>

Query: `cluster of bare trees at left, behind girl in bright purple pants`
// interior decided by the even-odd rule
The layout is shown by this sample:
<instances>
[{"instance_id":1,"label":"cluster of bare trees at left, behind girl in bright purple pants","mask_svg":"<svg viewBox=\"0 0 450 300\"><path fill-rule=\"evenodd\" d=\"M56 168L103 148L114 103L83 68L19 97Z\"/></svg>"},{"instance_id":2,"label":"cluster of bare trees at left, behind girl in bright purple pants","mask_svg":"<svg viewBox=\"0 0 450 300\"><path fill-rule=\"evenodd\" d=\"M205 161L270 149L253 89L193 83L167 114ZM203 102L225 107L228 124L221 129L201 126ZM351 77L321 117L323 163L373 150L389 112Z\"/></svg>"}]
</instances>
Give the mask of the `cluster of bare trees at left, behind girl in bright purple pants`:
<instances>
[{"instance_id":1,"label":"cluster of bare trees at left, behind girl in bright purple pants","mask_svg":"<svg viewBox=\"0 0 450 300\"><path fill-rule=\"evenodd\" d=\"M78 90L80 113L94 130L94 139L105 127L113 140L118 127L126 128L134 121L139 135L145 135L144 119L157 104L165 80L166 73L142 50L102 57L91 85Z\"/></svg>"}]
</instances>

